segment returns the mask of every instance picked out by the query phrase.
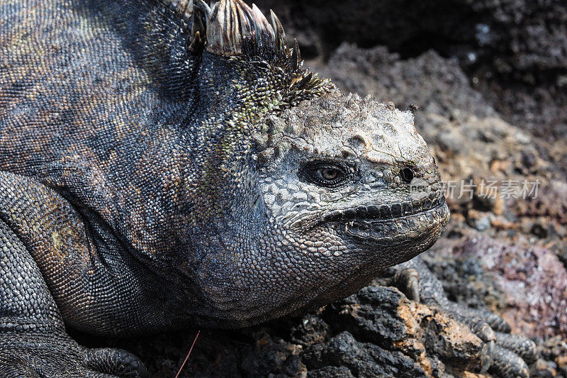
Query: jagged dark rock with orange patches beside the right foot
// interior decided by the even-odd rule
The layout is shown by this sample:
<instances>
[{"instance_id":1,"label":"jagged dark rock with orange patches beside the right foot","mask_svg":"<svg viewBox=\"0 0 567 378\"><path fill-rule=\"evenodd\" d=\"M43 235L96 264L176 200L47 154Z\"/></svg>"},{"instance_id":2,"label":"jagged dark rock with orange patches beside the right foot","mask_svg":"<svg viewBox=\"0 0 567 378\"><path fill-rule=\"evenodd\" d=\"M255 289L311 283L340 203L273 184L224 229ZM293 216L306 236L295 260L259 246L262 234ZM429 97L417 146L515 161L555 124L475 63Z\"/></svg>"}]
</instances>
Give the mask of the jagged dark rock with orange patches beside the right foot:
<instances>
[{"instance_id":1,"label":"jagged dark rock with orange patches beside the right foot","mask_svg":"<svg viewBox=\"0 0 567 378\"><path fill-rule=\"evenodd\" d=\"M384 372L384 376L405 376L406 371L410 377L437 376L481 365L483 344L476 335L435 309L409 301L395 288L366 287L330 306L323 316L337 332L347 330L357 340L409 357L420 367L410 371L402 368L408 366L404 360L377 361L383 367L399 369Z\"/></svg>"}]
</instances>

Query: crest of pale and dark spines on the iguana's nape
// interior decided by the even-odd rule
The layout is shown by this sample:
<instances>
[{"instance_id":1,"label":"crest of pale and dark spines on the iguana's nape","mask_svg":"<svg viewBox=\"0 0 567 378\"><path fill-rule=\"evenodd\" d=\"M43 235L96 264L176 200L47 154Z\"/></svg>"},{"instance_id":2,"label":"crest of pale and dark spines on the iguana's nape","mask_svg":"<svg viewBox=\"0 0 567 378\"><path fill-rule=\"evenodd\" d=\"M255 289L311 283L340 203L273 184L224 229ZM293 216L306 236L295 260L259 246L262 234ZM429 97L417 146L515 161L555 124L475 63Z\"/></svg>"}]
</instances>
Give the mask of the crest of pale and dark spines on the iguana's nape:
<instances>
[{"instance_id":1,"label":"crest of pale and dark spines on the iguana's nape","mask_svg":"<svg viewBox=\"0 0 567 378\"><path fill-rule=\"evenodd\" d=\"M220 0L210 6L203 0L161 1L183 18L191 35L187 43L191 55L206 51L229 60L268 64L279 72L283 104L293 105L335 88L303 69L298 42L288 44L274 11L268 21L255 4L248 6L242 0Z\"/></svg>"}]
</instances>

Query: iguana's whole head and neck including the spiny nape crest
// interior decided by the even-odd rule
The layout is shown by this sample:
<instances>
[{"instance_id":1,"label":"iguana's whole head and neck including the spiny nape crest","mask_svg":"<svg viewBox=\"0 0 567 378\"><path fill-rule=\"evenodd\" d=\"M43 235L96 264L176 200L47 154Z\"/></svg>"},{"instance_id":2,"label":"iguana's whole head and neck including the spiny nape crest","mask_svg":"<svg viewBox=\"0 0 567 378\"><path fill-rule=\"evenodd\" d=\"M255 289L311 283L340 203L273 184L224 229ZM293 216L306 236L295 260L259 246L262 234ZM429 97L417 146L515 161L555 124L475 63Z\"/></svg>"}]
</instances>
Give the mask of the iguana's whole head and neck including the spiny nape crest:
<instances>
[{"instance_id":1,"label":"iguana's whole head and neck including the spiny nape crest","mask_svg":"<svg viewBox=\"0 0 567 378\"><path fill-rule=\"evenodd\" d=\"M235 327L321 306L437 240L449 211L412 111L303 70L273 13L240 0L180 13L199 94L187 135L201 146L169 186L200 298L189 312Z\"/></svg>"}]
</instances>

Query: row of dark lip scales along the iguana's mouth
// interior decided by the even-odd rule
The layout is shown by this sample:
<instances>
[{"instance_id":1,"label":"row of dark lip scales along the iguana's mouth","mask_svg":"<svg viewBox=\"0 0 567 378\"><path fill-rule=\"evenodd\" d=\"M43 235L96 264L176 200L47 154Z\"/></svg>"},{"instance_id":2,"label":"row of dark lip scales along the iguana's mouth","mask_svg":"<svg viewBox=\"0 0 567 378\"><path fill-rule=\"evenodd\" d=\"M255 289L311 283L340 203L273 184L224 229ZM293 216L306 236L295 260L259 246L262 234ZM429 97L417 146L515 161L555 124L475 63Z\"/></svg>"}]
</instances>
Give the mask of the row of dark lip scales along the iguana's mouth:
<instances>
[{"instance_id":1,"label":"row of dark lip scales along the iguana's mouth","mask_svg":"<svg viewBox=\"0 0 567 378\"><path fill-rule=\"evenodd\" d=\"M388 221L441 208L444 204L445 198L441 196L427 202L404 201L390 205L357 206L354 209L330 211L323 216L323 221Z\"/></svg>"}]
</instances>

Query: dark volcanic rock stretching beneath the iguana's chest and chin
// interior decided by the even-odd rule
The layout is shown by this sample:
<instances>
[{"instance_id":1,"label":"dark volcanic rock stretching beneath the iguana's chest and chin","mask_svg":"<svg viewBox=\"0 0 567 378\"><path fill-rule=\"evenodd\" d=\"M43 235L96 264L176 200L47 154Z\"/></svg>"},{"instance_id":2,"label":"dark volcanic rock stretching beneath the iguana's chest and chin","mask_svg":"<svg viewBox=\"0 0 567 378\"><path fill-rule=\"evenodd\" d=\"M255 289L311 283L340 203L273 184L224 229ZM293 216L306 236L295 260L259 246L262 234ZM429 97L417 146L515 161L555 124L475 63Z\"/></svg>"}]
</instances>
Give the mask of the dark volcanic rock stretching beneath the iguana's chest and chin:
<instances>
[{"instance_id":1,"label":"dark volcanic rock stretching beneath the iguana's chest and chin","mask_svg":"<svg viewBox=\"0 0 567 378\"><path fill-rule=\"evenodd\" d=\"M99 343L140 355L152 377L174 377L194 334ZM462 377L480 369L482 347L434 308L369 286L303 318L204 331L181 377Z\"/></svg>"}]
</instances>

